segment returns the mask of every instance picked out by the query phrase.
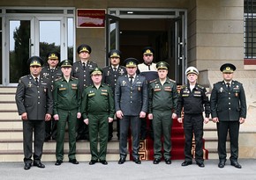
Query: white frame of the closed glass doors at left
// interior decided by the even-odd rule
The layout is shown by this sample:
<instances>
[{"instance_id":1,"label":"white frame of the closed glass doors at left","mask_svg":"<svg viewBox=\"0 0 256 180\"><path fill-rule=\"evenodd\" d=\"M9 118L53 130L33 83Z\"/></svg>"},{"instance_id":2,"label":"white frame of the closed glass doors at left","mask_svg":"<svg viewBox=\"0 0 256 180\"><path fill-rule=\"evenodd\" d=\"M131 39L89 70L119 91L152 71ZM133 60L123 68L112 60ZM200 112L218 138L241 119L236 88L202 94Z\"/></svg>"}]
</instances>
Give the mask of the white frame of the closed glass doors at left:
<instances>
[{"instance_id":1,"label":"white frame of the closed glass doors at left","mask_svg":"<svg viewBox=\"0 0 256 180\"><path fill-rule=\"evenodd\" d=\"M2 61L2 84L0 86L17 86L17 83L10 83L10 58L9 58L9 47L10 47L10 26L9 21L13 20L30 20L31 21L31 42L33 46L30 47L30 56L39 55L39 28L40 21L60 21L60 53L62 59L68 57L68 18L73 18L73 44L76 44L76 19L75 19L75 8L74 7L1 7L2 13L2 47L3 47L3 61ZM13 11L21 11L22 13ZM35 12L36 11L36 12ZM37 12L39 11L39 12ZM57 11L57 13L56 13ZM73 51L73 57L76 57L76 51Z\"/></svg>"}]
</instances>

